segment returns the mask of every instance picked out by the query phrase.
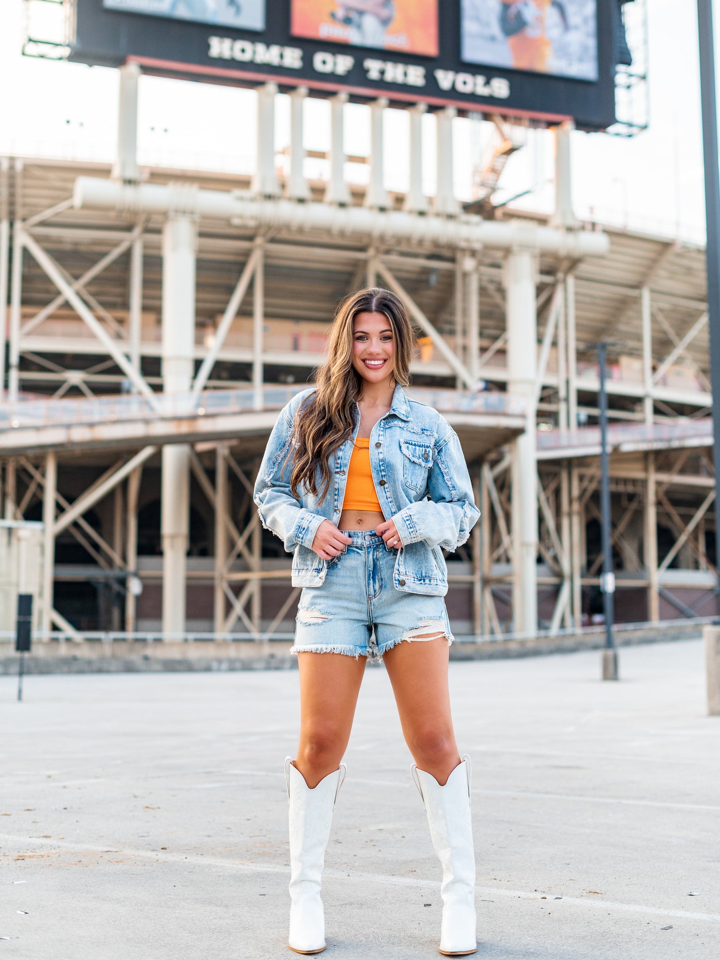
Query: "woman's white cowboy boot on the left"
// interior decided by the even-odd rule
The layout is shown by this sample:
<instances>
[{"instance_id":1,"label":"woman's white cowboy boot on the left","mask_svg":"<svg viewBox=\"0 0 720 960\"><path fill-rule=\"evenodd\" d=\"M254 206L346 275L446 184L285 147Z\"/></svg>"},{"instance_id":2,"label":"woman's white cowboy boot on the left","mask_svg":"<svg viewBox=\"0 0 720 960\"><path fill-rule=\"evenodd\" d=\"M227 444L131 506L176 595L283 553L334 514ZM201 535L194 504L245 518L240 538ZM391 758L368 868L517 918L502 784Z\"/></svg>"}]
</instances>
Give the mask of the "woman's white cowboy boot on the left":
<instances>
[{"instance_id":1,"label":"woman's white cowboy boot on the left","mask_svg":"<svg viewBox=\"0 0 720 960\"><path fill-rule=\"evenodd\" d=\"M345 780L345 772L345 764L341 763L338 770L328 774L311 790L290 757L285 760L285 784L290 806L288 946L296 953L320 953L325 948L325 919L320 890L332 811Z\"/></svg>"}]
</instances>

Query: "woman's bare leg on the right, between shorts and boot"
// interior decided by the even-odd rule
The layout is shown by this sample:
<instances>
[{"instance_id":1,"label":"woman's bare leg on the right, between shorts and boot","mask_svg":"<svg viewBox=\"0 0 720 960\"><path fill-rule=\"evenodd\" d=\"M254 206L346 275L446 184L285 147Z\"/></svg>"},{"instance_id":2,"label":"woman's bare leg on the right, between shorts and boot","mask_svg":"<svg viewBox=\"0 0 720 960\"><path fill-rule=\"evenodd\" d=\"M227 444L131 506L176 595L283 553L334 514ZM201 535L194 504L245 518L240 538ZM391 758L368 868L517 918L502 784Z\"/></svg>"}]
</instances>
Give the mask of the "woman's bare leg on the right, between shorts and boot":
<instances>
[{"instance_id":1,"label":"woman's bare leg on the right, between shorts and boot","mask_svg":"<svg viewBox=\"0 0 720 960\"><path fill-rule=\"evenodd\" d=\"M383 656L405 742L415 762L444 785L460 763L447 689L447 637L405 640Z\"/></svg>"}]
</instances>

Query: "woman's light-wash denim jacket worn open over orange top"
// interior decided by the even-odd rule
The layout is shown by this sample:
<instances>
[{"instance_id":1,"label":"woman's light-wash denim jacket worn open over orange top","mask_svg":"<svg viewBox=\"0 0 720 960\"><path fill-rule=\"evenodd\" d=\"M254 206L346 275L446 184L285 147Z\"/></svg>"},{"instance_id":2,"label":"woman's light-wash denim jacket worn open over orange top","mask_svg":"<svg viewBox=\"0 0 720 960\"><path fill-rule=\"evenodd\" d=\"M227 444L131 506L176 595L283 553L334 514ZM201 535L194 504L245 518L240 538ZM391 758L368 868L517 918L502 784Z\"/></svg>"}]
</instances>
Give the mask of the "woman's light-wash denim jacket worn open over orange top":
<instances>
[{"instance_id":1,"label":"woman's light-wash denim jacket worn open over orange top","mask_svg":"<svg viewBox=\"0 0 720 960\"><path fill-rule=\"evenodd\" d=\"M314 388L313 388L314 389ZM337 524L343 509L352 437L330 456L330 489L323 503L300 487L290 492L292 458L288 454L293 421L304 390L284 407L270 435L257 474L254 502L263 525L294 551L293 587L322 587L327 565L311 550L323 520ZM444 596L447 568L443 550L468 540L480 511L472 498L468 467L457 434L437 410L410 399L396 386L393 405L371 432L372 479L383 516L395 520L397 549L395 587L407 593Z\"/></svg>"}]
</instances>

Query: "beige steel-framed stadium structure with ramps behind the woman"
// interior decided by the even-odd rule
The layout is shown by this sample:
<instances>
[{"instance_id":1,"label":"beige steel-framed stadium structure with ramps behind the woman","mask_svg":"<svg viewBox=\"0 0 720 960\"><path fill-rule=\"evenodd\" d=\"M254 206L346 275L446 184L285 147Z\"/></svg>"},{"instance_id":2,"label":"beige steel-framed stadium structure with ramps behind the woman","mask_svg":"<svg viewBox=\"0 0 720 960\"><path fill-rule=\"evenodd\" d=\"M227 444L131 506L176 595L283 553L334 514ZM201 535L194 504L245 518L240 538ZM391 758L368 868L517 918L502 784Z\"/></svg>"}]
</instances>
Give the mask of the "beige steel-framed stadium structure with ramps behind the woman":
<instances>
[{"instance_id":1,"label":"beige steel-framed stadium structure with ramps behind the woman","mask_svg":"<svg viewBox=\"0 0 720 960\"><path fill-rule=\"evenodd\" d=\"M412 393L457 430L483 519L448 557L460 636L580 628L601 610L596 346L611 357L612 545L621 621L717 612L705 254L579 222L571 122L554 125L551 217L493 206L508 118L478 199L388 192L369 105L368 183L346 180L348 94L330 99L326 180L307 180L304 86L276 156L257 86L254 176L140 168L140 67L121 68L110 165L0 158L0 470L7 622L36 630L267 640L292 633L290 557L252 483L278 410L312 381L336 302L382 285L418 326ZM359 159L359 158L355 158Z\"/></svg>"}]
</instances>

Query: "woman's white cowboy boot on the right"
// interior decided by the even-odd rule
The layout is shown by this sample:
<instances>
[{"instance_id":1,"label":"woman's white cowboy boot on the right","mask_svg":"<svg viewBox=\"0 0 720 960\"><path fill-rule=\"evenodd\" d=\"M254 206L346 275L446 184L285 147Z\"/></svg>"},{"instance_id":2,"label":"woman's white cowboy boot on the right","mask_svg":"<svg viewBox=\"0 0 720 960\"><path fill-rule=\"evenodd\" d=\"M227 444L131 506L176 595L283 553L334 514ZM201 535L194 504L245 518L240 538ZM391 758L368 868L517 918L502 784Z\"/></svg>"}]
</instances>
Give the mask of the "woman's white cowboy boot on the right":
<instances>
[{"instance_id":1,"label":"woman's white cowboy boot on the right","mask_svg":"<svg viewBox=\"0 0 720 960\"><path fill-rule=\"evenodd\" d=\"M477 952L475 854L470 822L470 758L452 771L444 786L413 764L411 773L425 804L433 847L443 867L443 926L440 952Z\"/></svg>"}]
</instances>

